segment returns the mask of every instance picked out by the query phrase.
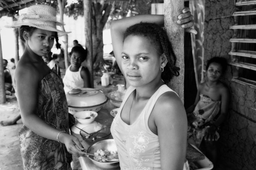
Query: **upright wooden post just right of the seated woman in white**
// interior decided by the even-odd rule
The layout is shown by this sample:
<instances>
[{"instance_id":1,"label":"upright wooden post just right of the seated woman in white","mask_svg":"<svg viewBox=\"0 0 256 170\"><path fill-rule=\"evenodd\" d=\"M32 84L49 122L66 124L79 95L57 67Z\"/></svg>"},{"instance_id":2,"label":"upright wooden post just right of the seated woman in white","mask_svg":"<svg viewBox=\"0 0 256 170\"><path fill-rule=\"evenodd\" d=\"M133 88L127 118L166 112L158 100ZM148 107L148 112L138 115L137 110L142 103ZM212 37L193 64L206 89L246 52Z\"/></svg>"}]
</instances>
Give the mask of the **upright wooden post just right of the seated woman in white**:
<instances>
[{"instance_id":1,"label":"upright wooden post just right of the seated woman in white","mask_svg":"<svg viewBox=\"0 0 256 170\"><path fill-rule=\"evenodd\" d=\"M84 17L85 17L85 46L87 48L87 68L90 71L91 88L94 88L94 69L93 69L93 44L92 44L92 7L91 0L84 0Z\"/></svg>"}]
</instances>

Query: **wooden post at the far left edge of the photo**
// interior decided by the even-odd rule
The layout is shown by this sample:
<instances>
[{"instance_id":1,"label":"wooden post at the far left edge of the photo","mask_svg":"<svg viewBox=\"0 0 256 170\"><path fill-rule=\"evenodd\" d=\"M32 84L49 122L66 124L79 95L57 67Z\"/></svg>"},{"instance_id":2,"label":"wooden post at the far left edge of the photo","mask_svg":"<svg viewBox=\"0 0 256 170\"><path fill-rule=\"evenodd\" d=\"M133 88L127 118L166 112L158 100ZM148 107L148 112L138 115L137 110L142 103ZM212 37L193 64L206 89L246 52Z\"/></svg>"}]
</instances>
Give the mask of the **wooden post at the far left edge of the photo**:
<instances>
[{"instance_id":1,"label":"wooden post at the far left edge of the photo","mask_svg":"<svg viewBox=\"0 0 256 170\"><path fill-rule=\"evenodd\" d=\"M4 83L5 83L4 82L4 62L2 57L2 43L1 43L1 34L0 34L0 104L3 104L6 102Z\"/></svg>"}]
</instances>

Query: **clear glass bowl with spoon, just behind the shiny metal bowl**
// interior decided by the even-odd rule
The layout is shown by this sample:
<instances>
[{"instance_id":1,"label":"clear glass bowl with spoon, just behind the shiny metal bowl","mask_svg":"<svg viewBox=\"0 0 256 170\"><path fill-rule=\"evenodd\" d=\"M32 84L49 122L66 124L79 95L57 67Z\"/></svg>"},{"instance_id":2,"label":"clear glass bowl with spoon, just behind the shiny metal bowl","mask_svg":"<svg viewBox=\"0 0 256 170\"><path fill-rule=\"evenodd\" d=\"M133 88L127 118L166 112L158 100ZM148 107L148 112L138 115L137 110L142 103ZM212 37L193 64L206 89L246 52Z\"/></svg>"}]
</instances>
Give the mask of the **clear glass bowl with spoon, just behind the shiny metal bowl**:
<instances>
[{"instance_id":1,"label":"clear glass bowl with spoon, just behind the shiny metal bowl","mask_svg":"<svg viewBox=\"0 0 256 170\"><path fill-rule=\"evenodd\" d=\"M84 131L87 133L85 133ZM99 132L95 133L92 136L88 135L96 131L99 131ZM80 131L80 135L88 143L96 143L98 141L108 139L110 137L110 134L111 134L110 127L107 127L106 125L101 125L101 124L88 125L82 128L82 130Z\"/></svg>"}]
</instances>

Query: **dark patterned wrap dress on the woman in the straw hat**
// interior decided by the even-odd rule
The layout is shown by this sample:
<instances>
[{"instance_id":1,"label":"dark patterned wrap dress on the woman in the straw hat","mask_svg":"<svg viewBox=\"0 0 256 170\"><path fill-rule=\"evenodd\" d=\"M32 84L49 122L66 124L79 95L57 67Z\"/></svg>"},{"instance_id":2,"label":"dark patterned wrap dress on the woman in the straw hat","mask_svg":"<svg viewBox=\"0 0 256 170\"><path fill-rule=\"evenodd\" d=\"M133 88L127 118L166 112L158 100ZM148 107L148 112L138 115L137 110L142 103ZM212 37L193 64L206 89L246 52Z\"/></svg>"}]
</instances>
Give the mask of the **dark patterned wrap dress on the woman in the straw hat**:
<instances>
[{"instance_id":1,"label":"dark patterned wrap dress on the woman in the straw hat","mask_svg":"<svg viewBox=\"0 0 256 170\"><path fill-rule=\"evenodd\" d=\"M51 70L38 85L37 116L69 133L68 104L62 79ZM24 170L69 170L72 155L64 144L37 135L26 126L19 131Z\"/></svg>"}]
</instances>

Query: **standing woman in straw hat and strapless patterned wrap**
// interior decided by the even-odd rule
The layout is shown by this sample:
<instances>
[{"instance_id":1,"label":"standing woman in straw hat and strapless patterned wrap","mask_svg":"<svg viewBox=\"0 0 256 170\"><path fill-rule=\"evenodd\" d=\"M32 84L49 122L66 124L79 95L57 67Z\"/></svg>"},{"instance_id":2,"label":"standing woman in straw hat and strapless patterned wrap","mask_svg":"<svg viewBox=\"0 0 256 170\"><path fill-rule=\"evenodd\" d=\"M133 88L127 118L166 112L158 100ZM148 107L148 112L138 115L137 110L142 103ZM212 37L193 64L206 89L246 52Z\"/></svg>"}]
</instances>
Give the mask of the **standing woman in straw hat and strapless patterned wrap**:
<instances>
[{"instance_id":1,"label":"standing woman in straw hat and strapless patterned wrap","mask_svg":"<svg viewBox=\"0 0 256 170\"><path fill-rule=\"evenodd\" d=\"M85 155L79 139L69 134L68 104L62 79L45 64L56 29L56 10L48 5L28 7L11 28L20 27L25 50L15 73L16 95L24 126L19 131L23 169L70 169L71 154ZM71 154L70 154L71 153Z\"/></svg>"}]
</instances>

